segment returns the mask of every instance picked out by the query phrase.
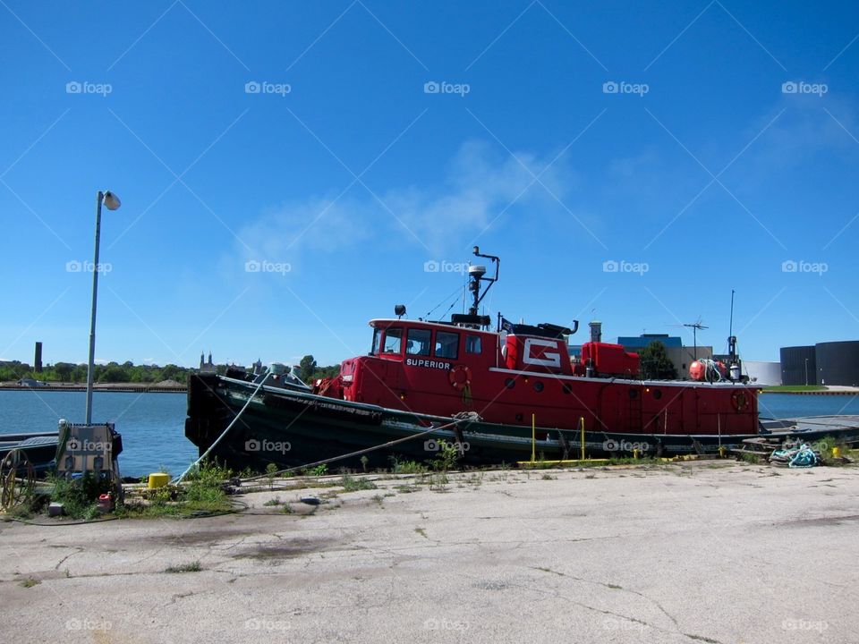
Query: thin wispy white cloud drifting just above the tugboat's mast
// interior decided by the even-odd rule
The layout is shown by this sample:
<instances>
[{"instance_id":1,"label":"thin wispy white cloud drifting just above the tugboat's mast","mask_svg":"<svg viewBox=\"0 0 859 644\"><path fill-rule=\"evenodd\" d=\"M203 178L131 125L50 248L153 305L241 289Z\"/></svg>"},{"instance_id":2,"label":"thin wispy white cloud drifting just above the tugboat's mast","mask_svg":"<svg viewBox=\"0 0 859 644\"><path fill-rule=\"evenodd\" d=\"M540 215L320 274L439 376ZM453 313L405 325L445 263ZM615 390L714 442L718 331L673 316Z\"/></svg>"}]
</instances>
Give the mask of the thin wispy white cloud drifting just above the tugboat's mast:
<instances>
[{"instance_id":1,"label":"thin wispy white cloud drifting just above the tugboat's mast","mask_svg":"<svg viewBox=\"0 0 859 644\"><path fill-rule=\"evenodd\" d=\"M460 247L508 207L540 202L544 208L558 210L540 182L564 199L574 174L563 159L540 174L551 159L531 153L515 153L514 158L485 142L469 141L458 150L438 185L377 191L378 199L355 185L339 199L332 195L269 208L238 233L253 249L242 249L243 261L295 265L305 251L336 252L392 232L406 243L422 243L430 250ZM534 182L538 175L540 182ZM498 218L496 225L503 222Z\"/></svg>"}]
</instances>

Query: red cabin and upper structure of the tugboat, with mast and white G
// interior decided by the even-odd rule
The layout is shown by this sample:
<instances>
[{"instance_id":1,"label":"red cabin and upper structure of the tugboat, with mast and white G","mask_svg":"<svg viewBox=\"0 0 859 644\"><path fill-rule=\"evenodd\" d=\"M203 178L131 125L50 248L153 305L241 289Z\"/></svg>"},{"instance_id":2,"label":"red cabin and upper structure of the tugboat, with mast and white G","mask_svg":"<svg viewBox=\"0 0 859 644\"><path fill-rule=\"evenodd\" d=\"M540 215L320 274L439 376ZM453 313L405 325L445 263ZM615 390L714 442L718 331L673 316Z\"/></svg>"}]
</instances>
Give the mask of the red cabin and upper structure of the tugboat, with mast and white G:
<instances>
[{"instance_id":1,"label":"red cabin and upper structure of the tugboat, with mast and white G","mask_svg":"<svg viewBox=\"0 0 859 644\"><path fill-rule=\"evenodd\" d=\"M578 328L511 324L499 316L500 333L483 330L481 300L498 280L499 260L486 277L469 269L471 310L448 322L374 319L370 354L344 360L340 375L314 386L314 393L401 411L454 416L475 411L489 423L586 428L629 434L753 434L757 390L723 380L644 382L636 353L619 344L582 346L573 365L566 336ZM481 293L481 283L488 282ZM400 309L403 310L403 309Z\"/></svg>"}]
</instances>

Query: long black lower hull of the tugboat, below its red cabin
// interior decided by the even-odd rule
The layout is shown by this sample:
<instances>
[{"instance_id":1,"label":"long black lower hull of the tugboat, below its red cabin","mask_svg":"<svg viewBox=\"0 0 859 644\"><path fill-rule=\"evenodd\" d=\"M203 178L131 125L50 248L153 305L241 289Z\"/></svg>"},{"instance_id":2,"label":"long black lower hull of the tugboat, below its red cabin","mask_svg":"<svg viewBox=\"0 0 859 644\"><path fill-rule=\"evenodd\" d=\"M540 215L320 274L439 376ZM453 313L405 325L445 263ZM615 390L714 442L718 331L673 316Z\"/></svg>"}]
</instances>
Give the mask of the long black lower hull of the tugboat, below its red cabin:
<instances>
[{"instance_id":1,"label":"long black lower hull of the tugboat, below its red cabin","mask_svg":"<svg viewBox=\"0 0 859 644\"><path fill-rule=\"evenodd\" d=\"M205 452L248 402L256 386L214 375L191 377L185 435ZM859 437L859 419L844 419L814 428L812 424L779 421L761 433L802 436L813 442L824 436ZM850 420L853 420L852 425ZM393 461L424 462L438 453L441 441L458 445L468 466L587 457L673 456L718 453L760 434L670 435L502 425L478 419L450 419L384 409L280 387L263 387L211 453L234 470L264 471L300 467L370 448L396 445L338 459L331 468L390 467Z\"/></svg>"}]
</instances>

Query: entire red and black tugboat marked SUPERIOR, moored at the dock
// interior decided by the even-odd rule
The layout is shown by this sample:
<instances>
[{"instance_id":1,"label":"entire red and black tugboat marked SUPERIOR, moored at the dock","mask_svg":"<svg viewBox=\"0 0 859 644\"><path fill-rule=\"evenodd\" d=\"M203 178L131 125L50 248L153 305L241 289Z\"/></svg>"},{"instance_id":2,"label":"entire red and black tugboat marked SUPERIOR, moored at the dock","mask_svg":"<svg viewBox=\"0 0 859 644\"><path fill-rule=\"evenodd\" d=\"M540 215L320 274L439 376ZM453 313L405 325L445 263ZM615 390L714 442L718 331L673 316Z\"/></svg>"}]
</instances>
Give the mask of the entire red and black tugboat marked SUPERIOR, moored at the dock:
<instances>
[{"instance_id":1,"label":"entire red and black tugboat marked SUPERIOR, moored at the dock","mask_svg":"<svg viewBox=\"0 0 859 644\"><path fill-rule=\"evenodd\" d=\"M397 306L397 318L370 321L369 354L344 360L337 377L312 387L288 368L191 377L186 436L200 453L215 445L219 460L262 470L392 441L366 454L373 466L422 461L440 440L458 445L465 463L498 464L533 453L576 458L583 446L589 456L716 452L758 435L757 389L724 369L710 369L710 381L642 380L638 355L601 342L595 325L575 363L566 338L578 322L530 326L499 314L489 330L478 312L500 260L477 247L474 254L495 270L490 277L485 267L469 268L468 313L410 320ZM358 462L355 455L338 465Z\"/></svg>"}]
</instances>

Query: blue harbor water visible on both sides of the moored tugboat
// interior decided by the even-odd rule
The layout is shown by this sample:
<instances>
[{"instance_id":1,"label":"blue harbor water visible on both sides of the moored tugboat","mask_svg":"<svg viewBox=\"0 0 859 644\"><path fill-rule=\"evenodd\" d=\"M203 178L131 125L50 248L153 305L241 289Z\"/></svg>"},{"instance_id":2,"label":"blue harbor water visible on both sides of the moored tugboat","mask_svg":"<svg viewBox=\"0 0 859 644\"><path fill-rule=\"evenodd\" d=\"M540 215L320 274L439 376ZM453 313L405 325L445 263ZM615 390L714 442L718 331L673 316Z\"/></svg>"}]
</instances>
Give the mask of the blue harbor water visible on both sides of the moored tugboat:
<instances>
[{"instance_id":1,"label":"blue harbor water visible on both sides of the moored tugboat","mask_svg":"<svg viewBox=\"0 0 859 644\"><path fill-rule=\"evenodd\" d=\"M764 418L859 415L857 395L761 394ZM82 422L84 392L0 391L0 434L55 431L59 419ZM93 394L93 420L114 422L123 435L123 476L142 477L166 468L182 472L197 458L185 438L185 394Z\"/></svg>"}]
</instances>

